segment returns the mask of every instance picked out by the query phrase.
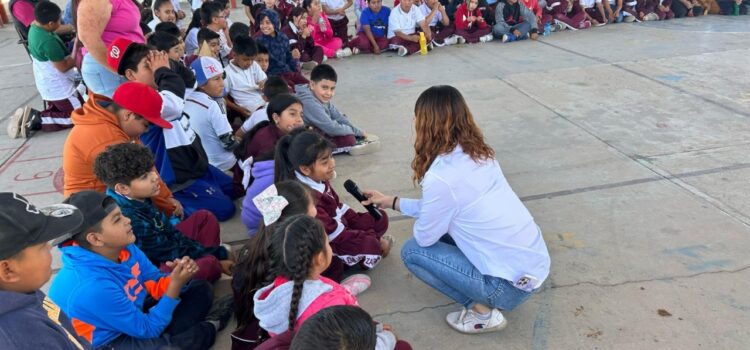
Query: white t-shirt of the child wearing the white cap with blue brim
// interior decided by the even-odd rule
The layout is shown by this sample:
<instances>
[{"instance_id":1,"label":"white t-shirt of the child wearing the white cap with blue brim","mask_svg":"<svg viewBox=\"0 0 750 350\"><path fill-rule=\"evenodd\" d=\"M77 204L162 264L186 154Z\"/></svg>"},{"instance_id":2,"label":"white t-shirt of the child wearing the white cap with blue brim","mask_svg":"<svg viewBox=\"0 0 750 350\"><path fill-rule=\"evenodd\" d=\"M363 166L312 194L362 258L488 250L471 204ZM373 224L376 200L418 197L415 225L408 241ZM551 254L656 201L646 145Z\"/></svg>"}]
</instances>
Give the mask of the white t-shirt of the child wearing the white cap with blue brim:
<instances>
[{"instance_id":1,"label":"white t-shirt of the child wearing the white cap with blue brim","mask_svg":"<svg viewBox=\"0 0 750 350\"><path fill-rule=\"evenodd\" d=\"M185 100L185 113L190 116L190 127L201 139L208 162L222 171L231 169L237 158L232 151L224 149L219 139L221 135L232 133L223 107L205 93L193 91Z\"/></svg>"}]
</instances>

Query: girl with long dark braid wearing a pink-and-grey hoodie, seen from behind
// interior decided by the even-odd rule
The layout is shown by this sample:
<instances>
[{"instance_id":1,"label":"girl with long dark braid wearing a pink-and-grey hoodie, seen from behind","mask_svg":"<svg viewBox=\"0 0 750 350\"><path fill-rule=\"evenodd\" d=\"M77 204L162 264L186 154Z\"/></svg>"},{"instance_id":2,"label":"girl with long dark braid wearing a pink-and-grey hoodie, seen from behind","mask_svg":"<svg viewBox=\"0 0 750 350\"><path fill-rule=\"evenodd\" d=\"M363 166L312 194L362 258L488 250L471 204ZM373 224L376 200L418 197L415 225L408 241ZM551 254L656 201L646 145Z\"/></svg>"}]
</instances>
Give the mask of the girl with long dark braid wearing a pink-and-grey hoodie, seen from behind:
<instances>
[{"instance_id":1,"label":"girl with long dark braid wearing a pink-and-grey hoodie, seen from behind","mask_svg":"<svg viewBox=\"0 0 750 350\"><path fill-rule=\"evenodd\" d=\"M320 221L290 216L274 225L269 241L273 282L255 292L253 313L271 337L295 331L326 307L357 305L349 291L321 276L334 252Z\"/></svg>"}]
</instances>

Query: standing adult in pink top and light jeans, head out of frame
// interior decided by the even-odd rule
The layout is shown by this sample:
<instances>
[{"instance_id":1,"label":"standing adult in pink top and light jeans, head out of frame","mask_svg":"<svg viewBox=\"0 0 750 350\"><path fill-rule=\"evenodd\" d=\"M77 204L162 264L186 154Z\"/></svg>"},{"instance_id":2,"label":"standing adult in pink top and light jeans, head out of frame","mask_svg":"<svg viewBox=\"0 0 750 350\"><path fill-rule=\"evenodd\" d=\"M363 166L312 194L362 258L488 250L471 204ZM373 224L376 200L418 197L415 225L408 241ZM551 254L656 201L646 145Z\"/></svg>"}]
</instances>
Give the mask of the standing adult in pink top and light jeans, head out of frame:
<instances>
[{"instance_id":1,"label":"standing adult in pink top and light jeans, head out of frame","mask_svg":"<svg viewBox=\"0 0 750 350\"><path fill-rule=\"evenodd\" d=\"M133 0L79 1L78 38L85 46L81 65L83 81L94 93L112 98L125 79L107 64L107 46L118 37L136 43L146 41L140 26L140 9Z\"/></svg>"}]
</instances>

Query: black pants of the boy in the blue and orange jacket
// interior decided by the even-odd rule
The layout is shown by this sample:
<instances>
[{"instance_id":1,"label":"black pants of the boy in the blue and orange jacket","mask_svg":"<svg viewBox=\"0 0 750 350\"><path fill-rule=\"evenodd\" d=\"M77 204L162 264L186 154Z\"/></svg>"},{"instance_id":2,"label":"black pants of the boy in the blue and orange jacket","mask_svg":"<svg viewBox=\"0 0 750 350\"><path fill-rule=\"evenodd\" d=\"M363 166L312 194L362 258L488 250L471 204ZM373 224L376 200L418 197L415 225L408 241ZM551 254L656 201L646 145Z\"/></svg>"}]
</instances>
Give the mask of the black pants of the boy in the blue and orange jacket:
<instances>
[{"instance_id":1,"label":"black pants of the boy in the blue and orange jacket","mask_svg":"<svg viewBox=\"0 0 750 350\"><path fill-rule=\"evenodd\" d=\"M192 281L180 293L180 303L172 313L172 322L158 338L138 339L121 335L100 349L134 349L134 350L204 350L216 341L216 328L205 322L206 315L213 303L213 287L205 281ZM156 305L153 299L147 299L144 311Z\"/></svg>"}]
</instances>

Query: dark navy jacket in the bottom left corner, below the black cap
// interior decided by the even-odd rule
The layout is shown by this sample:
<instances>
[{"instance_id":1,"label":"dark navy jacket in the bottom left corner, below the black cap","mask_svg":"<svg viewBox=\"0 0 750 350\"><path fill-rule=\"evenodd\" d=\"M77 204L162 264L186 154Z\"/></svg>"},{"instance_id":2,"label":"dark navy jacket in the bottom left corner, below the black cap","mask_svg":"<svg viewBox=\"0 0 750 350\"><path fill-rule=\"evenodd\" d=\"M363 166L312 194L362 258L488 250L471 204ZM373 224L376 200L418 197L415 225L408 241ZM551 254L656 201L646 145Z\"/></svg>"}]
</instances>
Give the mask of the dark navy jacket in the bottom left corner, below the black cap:
<instances>
[{"instance_id":1,"label":"dark navy jacket in the bottom left corner, below the black cap","mask_svg":"<svg viewBox=\"0 0 750 350\"><path fill-rule=\"evenodd\" d=\"M83 350L91 344L41 291L0 291L0 349Z\"/></svg>"}]
</instances>

